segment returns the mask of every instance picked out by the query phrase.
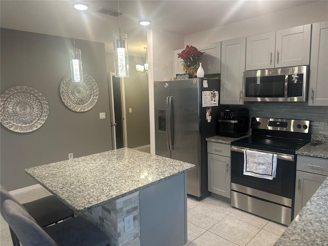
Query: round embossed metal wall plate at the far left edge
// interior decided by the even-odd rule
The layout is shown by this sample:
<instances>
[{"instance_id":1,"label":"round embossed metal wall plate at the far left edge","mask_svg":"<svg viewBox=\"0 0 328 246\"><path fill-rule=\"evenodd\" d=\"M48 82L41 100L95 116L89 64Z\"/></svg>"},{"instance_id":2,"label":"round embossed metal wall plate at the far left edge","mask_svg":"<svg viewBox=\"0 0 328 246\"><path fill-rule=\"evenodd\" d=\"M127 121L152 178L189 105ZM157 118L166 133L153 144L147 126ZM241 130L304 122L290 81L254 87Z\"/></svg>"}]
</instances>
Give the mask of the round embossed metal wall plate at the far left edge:
<instances>
[{"instance_id":1,"label":"round embossed metal wall plate at the far left edge","mask_svg":"<svg viewBox=\"0 0 328 246\"><path fill-rule=\"evenodd\" d=\"M14 86L0 96L1 124L13 132L33 132L40 128L49 114L48 101L29 86Z\"/></svg>"}]
</instances>

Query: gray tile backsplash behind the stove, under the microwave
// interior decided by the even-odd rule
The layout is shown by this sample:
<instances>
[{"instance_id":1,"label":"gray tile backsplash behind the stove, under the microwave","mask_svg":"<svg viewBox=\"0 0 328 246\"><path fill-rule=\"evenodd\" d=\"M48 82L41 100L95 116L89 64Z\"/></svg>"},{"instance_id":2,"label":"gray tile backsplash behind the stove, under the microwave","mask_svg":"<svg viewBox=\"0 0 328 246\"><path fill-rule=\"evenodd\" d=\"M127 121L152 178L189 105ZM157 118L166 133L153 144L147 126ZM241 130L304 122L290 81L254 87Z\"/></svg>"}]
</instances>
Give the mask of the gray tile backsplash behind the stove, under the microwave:
<instances>
[{"instance_id":1,"label":"gray tile backsplash behind the stove, under the microwave","mask_svg":"<svg viewBox=\"0 0 328 246\"><path fill-rule=\"evenodd\" d=\"M307 103L245 103L250 117L305 119L311 121L311 133L328 135L328 107L308 106ZM241 108L239 106L238 108Z\"/></svg>"}]
</instances>

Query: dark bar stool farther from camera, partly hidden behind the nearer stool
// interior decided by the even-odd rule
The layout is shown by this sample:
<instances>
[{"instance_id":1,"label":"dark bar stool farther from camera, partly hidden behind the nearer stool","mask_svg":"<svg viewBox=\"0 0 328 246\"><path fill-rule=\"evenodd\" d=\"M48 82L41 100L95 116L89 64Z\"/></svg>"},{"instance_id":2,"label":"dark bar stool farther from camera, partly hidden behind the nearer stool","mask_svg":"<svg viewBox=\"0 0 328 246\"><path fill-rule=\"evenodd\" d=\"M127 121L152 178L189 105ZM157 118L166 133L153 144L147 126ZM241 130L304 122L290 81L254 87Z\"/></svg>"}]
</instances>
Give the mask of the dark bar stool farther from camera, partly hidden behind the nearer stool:
<instances>
[{"instance_id":1,"label":"dark bar stool farther from camera, partly hidden behind the nearer stool","mask_svg":"<svg viewBox=\"0 0 328 246\"><path fill-rule=\"evenodd\" d=\"M23 206L41 227L47 227L50 224L57 223L63 219L74 217L73 210L54 196L46 196L31 202L20 204L19 201L17 201L17 199L14 198L2 185L0 194L1 214L3 214L3 202L7 199L13 200L20 206ZM10 227L9 229L13 245L19 246L19 240Z\"/></svg>"}]
</instances>

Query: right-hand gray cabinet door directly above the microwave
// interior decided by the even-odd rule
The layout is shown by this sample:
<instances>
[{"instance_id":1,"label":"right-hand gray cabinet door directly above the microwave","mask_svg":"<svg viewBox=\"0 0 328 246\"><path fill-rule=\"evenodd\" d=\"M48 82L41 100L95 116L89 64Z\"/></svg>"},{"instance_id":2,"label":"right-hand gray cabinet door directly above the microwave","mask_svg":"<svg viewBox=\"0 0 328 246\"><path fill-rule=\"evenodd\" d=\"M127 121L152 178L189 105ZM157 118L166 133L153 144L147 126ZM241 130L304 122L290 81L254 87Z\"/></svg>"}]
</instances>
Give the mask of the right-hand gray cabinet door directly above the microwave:
<instances>
[{"instance_id":1,"label":"right-hand gray cabinet door directly above the microwave","mask_svg":"<svg viewBox=\"0 0 328 246\"><path fill-rule=\"evenodd\" d=\"M310 64L311 24L276 32L275 67Z\"/></svg>"}]
</instances>

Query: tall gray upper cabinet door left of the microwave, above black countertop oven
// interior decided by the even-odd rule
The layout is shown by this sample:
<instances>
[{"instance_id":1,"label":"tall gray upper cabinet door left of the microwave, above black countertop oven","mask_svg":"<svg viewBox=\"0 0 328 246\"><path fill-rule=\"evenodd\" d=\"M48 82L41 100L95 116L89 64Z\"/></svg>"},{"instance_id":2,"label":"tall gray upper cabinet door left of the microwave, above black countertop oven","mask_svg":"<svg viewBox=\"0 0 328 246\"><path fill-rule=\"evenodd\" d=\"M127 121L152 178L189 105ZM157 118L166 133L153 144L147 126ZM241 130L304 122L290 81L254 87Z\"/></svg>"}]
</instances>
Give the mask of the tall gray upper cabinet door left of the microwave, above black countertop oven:
<instances>
[{"instance_id":1,"label":"tall gray upper cabinet door left of the microwave, above black countertop oven","mask_svg":"<svg viewBox=\"0 0 328 246\"><path fill-rule=\"evenodd\" d=\"M221 42L220 104L243 104L246 37Z\"/></svg>"}]
</instances>

